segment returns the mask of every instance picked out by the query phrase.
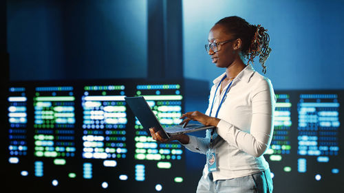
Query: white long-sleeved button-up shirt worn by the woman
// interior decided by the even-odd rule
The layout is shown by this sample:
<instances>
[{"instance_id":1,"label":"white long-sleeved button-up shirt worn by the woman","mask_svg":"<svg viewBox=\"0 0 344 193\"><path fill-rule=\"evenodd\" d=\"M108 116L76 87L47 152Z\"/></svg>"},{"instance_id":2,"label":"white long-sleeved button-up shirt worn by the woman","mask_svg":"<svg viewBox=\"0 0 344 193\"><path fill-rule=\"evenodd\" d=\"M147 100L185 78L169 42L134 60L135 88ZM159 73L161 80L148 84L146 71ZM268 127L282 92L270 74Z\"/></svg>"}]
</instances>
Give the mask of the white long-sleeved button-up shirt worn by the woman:
<instances>
[{"instance_id":1,"label":"white long-sleeved button-up shirt worn by the woman","mask_svg":"<svg viewBox=\"0 0 344 193\"><path fill-rule=\"evenodd\" d=\"M209 106L206 115L211 112L211 104L215 95L213 111L215 113L224 94L226 98L219 109L214 138L214 149L217 156L216 172L213 179L233 179L255 174L269 168L264 159L264 152L270 146L273 133L274 111L276 104L275 93L270 80L257 73L252 65L243 69L230 85L228 93L226 88L219 93L215 90L226 73L216 78L211 88ZM229 84L228 84L229 85ZM228 85L226 87L228 87ZM193 151L206 154L209 148L211 130L206 130L206 137L189 135L189 144L184 146ZM204 166L204 177L208 168Z\"/></svg>"}]
</instances>

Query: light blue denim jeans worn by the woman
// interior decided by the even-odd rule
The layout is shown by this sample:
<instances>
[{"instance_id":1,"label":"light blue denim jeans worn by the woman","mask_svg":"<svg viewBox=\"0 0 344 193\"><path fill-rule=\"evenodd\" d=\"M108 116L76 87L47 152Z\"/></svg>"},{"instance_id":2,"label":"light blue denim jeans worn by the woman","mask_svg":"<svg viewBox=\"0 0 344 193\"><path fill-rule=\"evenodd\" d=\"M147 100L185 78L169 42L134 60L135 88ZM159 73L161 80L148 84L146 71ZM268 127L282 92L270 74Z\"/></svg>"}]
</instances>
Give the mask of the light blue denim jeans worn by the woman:
<instances>
[{"instance_id":1,"label":"light blue denim jeans worn by the woman","mask_svg":"<svg viewBox=\"0 0 344 193\"><path fill-rule=\"evenodd\" d=\"M272 188L270 169L246 177L217 181L213 181L213 174L209 172L205 179L201 177L197 193L272 193Z\"/></svg>"}]
</instances>

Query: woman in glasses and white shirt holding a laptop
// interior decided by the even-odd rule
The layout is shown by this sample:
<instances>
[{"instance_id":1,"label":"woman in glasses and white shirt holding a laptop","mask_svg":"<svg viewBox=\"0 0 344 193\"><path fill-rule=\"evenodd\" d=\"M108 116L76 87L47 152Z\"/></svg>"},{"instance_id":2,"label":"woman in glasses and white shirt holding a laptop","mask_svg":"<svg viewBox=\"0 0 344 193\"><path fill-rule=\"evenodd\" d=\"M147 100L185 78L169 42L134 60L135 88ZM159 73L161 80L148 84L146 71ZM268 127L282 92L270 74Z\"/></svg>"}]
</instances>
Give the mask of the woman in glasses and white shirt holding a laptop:
<instances>
[{"instance_id":1,"label":"woman in glasses and white shirt holding a laptop","mask_svg":"<svg viewBox=\"0 0 344 193\"><path fill-rule=\"evenodd\" d=\"M263 154L272 139L276 98L270 80L250 65L259 56L266 72L271 51L266 31L238 16L221 19L211 28L206 51L226 71L213 81L206 113L193 111L181 117L185 118L181 124L195 120L216 126L206 131L205 138L177 135L163 139L150 129L157 141L178 140L189 150L206 155L197 192L272 192Z\"/></svg>"}]
</instances>

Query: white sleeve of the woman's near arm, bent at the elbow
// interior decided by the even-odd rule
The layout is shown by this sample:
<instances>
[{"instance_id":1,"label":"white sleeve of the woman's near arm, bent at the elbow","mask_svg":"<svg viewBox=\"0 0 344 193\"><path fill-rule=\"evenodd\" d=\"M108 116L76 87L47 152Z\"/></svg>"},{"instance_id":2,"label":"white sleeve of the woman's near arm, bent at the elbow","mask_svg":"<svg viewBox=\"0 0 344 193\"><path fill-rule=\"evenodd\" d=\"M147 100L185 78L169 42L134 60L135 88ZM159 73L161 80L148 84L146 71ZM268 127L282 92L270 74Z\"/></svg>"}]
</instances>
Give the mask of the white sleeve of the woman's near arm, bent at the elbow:
<instances>
[{"instance_id":1,"label":"white sleeve of the woman's near arm, bent at the elbow","mask_svg":"<svg viewBox=\"0 0 344 193\"><path fill-rule=\"evenodd\" d=\"M252 120L246 133L233 124L220 120L217 133L228 142L254 157L264 154L272 139L276 97L270 80L261 79L252 89Z\"/></svg>"}]
</instances>

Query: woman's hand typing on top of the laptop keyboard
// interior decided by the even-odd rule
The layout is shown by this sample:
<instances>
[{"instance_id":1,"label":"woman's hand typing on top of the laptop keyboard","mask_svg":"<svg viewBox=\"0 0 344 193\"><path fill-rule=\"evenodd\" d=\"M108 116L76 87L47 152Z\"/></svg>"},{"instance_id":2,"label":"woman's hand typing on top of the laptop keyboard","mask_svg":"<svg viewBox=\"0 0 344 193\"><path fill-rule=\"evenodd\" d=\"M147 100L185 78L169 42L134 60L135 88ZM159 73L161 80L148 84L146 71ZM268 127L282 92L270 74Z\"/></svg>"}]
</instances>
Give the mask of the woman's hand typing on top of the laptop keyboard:
<instances>
[{"instance_id":1,"label":"woman's hand typing on top of the laptop keyboard","mask_svg":"<svg viewBox=\"0 0 344 193\"><path fill-rule=\"evenodd\" d=\"M209 117L208 115L205 115L204 113L201 113L200 111L191 111L188 113L184 113L180 119L186 118L183 120L180 124L188 124L191 120L200 122L201 124L204 124L205 126L217 126L219 123L219 119L215 117Z\"/></svg>"}]
</instances>

